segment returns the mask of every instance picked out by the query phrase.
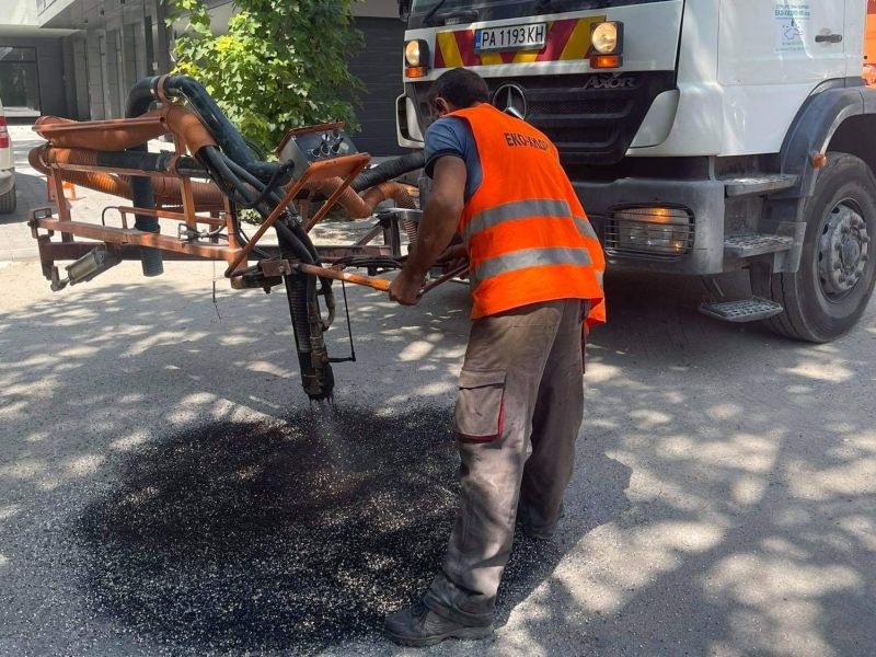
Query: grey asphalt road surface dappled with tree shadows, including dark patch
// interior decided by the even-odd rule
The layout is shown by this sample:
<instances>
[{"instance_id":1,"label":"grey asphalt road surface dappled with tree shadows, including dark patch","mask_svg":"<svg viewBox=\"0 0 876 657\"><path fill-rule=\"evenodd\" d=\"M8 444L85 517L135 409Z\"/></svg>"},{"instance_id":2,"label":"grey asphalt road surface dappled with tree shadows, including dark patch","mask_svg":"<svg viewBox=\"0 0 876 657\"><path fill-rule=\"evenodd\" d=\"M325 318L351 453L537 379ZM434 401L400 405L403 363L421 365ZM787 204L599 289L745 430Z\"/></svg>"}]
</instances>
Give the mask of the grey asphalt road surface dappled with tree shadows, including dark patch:
<instances>
[{"instance_id":1,"label":"grey asphalt road surface dappled with tree shadows, including dark patch","mask_svg":"<svg viewBox=\"0 0 876 657\"><path fill-rule=\"evenodd\" d=\"M311 411L281 295L0 266L1 655L416 653L378 629L452 520L464 288L349 290ZM609 293L557 539L518 541L495 638L428 654L872 655L876 306L811 346Z\"/></svg>"}]
</instances>

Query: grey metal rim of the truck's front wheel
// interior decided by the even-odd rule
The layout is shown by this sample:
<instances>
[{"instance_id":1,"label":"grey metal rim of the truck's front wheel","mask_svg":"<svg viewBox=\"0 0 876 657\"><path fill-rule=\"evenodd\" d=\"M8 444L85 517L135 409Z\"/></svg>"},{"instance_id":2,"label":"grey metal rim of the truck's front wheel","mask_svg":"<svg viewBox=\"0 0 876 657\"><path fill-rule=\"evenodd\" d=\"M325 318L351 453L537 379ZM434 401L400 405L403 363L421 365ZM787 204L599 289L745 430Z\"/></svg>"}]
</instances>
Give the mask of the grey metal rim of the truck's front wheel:
<instances>
[{"instance_id":1,"label":"grey metal rim of the truck's front wheel","mask_svg":"<svg viewBox=\"0 0 876 657\"><path fill-rule=\"evenodd\" d=\"M864 278L869 241L867 222L854 201L845 199L833 206L818 245L818 278L828 300L845 298Z\"/></svg>"}]
</instances>

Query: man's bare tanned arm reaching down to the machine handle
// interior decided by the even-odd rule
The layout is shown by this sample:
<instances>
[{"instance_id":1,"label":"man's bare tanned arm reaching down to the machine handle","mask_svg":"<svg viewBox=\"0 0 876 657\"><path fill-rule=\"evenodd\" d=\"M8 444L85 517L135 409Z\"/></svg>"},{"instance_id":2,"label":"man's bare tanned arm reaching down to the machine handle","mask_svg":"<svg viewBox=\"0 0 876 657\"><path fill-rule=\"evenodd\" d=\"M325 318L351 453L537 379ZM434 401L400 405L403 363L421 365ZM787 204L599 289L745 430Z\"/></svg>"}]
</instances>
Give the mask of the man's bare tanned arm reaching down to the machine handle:
<instances>
[{"instance_id":1,"label":"man's bare tanned arm reaching down to the machine handle","mask_svg":"<svg viewBox=\"0 0 876 657\"><path fill-rule=\"evenodd\" d=\"M417 241L407 262L390 285L390 299L403 306L417 302L426 273L443 253L457 231L465 205L465 163L445 155L435 163L429 200L419 221Z\"/></svg>"}]
</instances>

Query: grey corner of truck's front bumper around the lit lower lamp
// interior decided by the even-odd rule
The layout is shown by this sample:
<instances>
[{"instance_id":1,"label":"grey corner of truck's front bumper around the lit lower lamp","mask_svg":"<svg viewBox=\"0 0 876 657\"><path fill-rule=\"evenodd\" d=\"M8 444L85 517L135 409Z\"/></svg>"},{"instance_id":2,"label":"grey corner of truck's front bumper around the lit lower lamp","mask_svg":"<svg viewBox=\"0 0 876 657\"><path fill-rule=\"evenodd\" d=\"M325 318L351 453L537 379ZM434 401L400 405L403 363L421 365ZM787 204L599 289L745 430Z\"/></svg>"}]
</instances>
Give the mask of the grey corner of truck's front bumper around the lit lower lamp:
<instances>
[{"instance_id":1,"label":"grey corner of truck's front bumper around the lit lower lamp","mask_svg":"<svg viewBox=\"0 0 876 657\"><path fill-rule=\"evenodd\" d=\"M584 209L606 249L606 260L613 268L644 269L673 274L711 275L725 269L724 262L724 184L711 180L621 178L611 183L573 183ZM619 239L615 214L643 207L682 209L690 216L690 239L678 253L667 249L648 252ZM623 226L623 222L620 223ZM648 234L648 223L639 234Z\"/></svg>"}]
</instances>

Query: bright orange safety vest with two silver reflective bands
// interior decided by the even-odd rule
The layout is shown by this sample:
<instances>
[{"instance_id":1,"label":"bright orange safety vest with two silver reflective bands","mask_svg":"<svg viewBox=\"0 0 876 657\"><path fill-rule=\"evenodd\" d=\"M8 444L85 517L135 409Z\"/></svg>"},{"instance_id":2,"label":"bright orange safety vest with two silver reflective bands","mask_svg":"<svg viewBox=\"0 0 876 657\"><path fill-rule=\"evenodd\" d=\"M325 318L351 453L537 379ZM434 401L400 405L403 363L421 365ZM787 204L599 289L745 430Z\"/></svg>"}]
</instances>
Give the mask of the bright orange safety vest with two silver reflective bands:
<instances>
[{"instance_id":1,"label":"bright orange safety vest with two silver reflective bands","mask_svg":"<svg viewBox=\"0 0 876 657\"><path fill-rule=\"evenodd\" d=\"M588 299L587 324L604 322L606 258L556 147L486 103L450 116L471 126L483 170L458 227L469 252L472 319Z\"/></svg>"}]
</instances>

